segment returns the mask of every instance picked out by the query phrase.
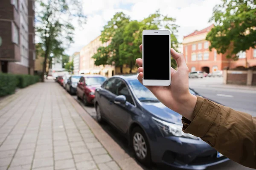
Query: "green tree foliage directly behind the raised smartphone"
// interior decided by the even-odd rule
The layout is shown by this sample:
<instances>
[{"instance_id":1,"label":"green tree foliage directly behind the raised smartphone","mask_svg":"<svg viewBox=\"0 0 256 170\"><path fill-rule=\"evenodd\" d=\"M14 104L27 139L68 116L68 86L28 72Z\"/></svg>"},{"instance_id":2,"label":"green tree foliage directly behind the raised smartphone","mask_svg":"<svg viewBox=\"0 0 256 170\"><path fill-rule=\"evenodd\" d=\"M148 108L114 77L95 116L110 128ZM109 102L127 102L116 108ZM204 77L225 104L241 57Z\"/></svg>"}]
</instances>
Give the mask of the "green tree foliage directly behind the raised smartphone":
<instances>
[{"instance_id":1,"label":"green tree foliage directly behind the raised smartphone","mask_svg":"<svg viewBox=\"0 0 256 170\"><path fill-rule=\"evenodd\" d=\"M178 26L175 19L164 16L156 11L155 14L149 15L142 21L130 20L122 12L116 13L113 18L104 26L101 34L101 41L111 44L107 47L100 47L98 53L93 56L95 65L115 65L122 66L128 64L130 72L135 66L135 60L141 58L142 54L139 45L142 44L142 32L145 29L165 28L171 31L171 47L177 48L178 41L176 38ZM172 59L172 67L176 68L177 64Z\"/></svg>"}]
</instances>

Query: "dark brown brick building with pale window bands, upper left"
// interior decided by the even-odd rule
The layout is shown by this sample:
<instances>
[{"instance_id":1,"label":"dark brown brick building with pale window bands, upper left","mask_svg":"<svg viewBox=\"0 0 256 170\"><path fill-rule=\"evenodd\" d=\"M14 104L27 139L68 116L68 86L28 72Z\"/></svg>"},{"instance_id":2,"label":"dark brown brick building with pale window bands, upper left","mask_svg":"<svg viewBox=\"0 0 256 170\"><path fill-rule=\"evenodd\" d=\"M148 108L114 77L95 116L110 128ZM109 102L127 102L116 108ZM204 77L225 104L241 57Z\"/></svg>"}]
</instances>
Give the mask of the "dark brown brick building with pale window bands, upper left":
<instances>
[{"instance_id":1,"label":"dark brown brick building with pale window bands, upper left","mask_svg":"<svg viewBox=\"0 0 256 170\"><path fill-rule=\"evenodd\" d=\"M0 71L34 74L34 0L0 0Z\"/></svg>"}]
</instances>

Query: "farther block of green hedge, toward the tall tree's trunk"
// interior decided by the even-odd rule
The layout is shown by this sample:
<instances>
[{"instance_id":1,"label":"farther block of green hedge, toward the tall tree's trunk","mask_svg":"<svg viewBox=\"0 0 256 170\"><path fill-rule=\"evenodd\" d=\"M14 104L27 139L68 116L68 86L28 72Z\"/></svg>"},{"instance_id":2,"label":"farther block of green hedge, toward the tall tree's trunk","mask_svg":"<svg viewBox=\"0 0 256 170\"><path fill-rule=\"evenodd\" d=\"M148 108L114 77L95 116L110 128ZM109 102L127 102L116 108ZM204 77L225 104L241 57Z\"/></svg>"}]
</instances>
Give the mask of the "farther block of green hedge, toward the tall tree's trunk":
<instances>
[{"instance_id":1,"label":"farther block of green hedge, toward the tall tree's trunk","mask_svg":"<svg viewBox=\"0 0 256 170\"><path fill-rule=\"evenodd\" d=\"M16 79L17 79L17 87L18 88L25 88L29 85L39 82L38 76L32 76L32 75L27 75L27 74L17 74Z\"/></svg>"}]
</instances>

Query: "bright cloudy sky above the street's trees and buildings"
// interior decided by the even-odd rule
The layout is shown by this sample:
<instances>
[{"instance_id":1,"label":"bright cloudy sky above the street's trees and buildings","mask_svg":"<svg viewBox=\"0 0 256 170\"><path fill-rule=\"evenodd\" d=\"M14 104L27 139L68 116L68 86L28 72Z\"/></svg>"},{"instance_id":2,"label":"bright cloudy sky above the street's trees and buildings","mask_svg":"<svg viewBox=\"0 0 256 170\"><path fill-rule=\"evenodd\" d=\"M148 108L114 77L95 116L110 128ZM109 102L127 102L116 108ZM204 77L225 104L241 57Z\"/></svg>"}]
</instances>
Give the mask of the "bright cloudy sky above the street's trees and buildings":
<instances>
[{"instance_id":1,"label":"bright cloudy sky above the street's trees and buildings","mask_svg":"<svg viewBox=\"0 0 256 170\"><path fill-rule=\"evenodd\" d=\"M101 34L103 26L116 12L124 12L131 20L143 20L157 9L160 13L174 17L178 28L177 39L195 30L210 26L213 7L221 0L82 0L87 23L76 26L74 43L65 52L72 55Z\"/></svg>"}]
</instances>

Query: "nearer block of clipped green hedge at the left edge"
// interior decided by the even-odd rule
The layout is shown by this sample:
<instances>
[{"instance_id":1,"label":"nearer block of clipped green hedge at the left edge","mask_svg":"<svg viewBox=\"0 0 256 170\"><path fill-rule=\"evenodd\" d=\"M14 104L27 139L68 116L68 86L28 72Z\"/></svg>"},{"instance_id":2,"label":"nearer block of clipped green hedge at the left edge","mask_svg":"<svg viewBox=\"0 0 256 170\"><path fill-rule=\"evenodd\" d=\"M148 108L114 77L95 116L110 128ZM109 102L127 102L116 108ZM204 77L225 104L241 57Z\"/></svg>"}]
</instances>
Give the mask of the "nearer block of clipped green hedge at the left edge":
<instances>
[{"instance_id":1,"label":"nearer block of clipped green hedge at the left edge","mask_svg":"<svg viewBox=\"0 0 256 170\"><path fill-rule=\"evenodd\" d=\"M17 84L16 76L13 74L0 73L0 96L6 96L15 92Z\"/></svg>"}]
</instances>

